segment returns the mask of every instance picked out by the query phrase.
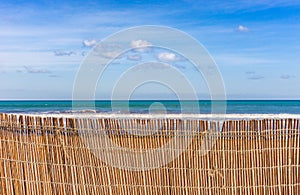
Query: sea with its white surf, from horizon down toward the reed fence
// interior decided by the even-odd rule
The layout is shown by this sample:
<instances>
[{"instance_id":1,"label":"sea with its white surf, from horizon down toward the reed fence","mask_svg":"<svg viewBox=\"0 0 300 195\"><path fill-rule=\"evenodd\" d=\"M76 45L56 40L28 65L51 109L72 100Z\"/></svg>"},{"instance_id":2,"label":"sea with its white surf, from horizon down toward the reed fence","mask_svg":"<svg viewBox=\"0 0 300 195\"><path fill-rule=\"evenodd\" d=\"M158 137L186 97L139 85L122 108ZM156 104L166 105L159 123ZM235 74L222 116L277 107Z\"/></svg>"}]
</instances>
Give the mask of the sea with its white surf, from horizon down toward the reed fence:
<instances>
[{"instance_id":1,"label":"sea with its white surf, from horizon down toward the reed fence","mask_svg":"<svg viewBox=\"0 0 300 195\"><path fill-rule=\"evenodd\" d=\"M15 114L190 114L206 116L213 107L222 108L223 114L239 116L276 116L300 118L300 100L129 100L81 101L74 107L72 100L18 100L0 101L0 113ZM92 105L92 106L91 106Z\"/></svg>"}]
</instances>

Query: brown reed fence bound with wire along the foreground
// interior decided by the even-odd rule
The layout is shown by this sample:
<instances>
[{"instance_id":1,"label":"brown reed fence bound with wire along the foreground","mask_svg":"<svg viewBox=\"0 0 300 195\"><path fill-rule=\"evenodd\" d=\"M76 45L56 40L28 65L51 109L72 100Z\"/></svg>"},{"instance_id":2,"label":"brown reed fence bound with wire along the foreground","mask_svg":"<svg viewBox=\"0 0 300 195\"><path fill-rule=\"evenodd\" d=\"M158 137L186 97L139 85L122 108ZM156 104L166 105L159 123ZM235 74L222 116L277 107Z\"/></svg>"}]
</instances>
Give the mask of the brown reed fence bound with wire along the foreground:
<instances>
[{"instance_id":1,"label":"brown reed fence bound with wire along the foreground","mask_svg":"<svg viewBox=\"0 0 300 195\"><path fill-rule=\"evenodd\" d=\"M219 125L214 147L201 155L205 132ZM172 162L132 171L97 158L79 136L82 127L87 134L105 131L119 146L134 150L161 147L180 128L197 133ZM154 127L155 134L130 133ZM218 124L0 114L0 194L300 194L299 135L300 119Z\"/></svg>"}]
</instances>

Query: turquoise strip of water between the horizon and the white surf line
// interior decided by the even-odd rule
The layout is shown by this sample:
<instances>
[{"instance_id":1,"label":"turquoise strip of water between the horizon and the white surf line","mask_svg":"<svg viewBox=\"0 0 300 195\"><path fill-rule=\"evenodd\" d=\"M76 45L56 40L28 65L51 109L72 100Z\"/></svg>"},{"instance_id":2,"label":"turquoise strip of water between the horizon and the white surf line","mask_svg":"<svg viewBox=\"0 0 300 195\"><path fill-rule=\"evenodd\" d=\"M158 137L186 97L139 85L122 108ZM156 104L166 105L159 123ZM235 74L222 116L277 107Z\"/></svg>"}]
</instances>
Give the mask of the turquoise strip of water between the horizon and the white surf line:
<instances>
[{"instance_id":1,"label":"turquoise strip of water between the horizon and the white surf line","mask_svg":"<svg viewBox=\"0 0 300 195\"><path fill-rule=\"evenodd\" d=\"M196 105L199 103L200 110ZM300 100L229 100L226 102L228 114L300 114ZM113 109L112 109L113 105ZM149 110L165 109L166 113L211 113L211 101L176 101L176 100L132 100L132 101L96 101L97 113L122 113L129 105L130 113L149 113ZM152 106L151 106L152 105ZM163 105L156 107L153 105ZM184 105L184 106L183 106ZM184 109L184 110L182 110ZM0 101L1 113L71 113L72 101ZM80 112L94 110L85 102L77 108ZM150 111L150 112L151 112Z\"/></svg>"}]
</instances>

